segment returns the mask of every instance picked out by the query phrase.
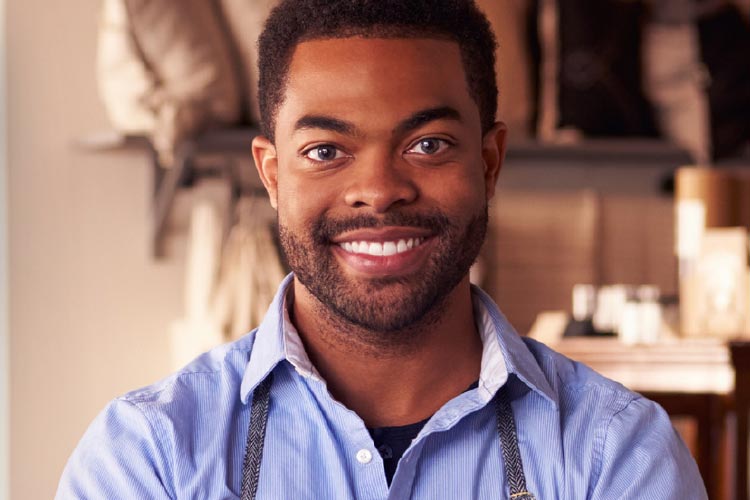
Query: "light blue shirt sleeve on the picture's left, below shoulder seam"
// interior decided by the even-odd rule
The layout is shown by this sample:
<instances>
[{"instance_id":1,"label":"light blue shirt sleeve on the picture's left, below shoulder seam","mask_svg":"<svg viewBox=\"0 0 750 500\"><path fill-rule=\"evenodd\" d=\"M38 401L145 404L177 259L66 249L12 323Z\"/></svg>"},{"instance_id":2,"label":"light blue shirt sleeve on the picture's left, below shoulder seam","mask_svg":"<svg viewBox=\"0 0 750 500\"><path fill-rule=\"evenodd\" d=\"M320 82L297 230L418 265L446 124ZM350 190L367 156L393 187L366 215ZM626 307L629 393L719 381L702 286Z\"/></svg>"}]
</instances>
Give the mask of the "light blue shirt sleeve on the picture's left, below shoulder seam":
<instances>
[{"instance_id":1,"label":"light blue shirt sleeve on the picture's left, below shoulder seam","mask_svg":"<svg viewBox=\"0 0 750 500\"><path fill-rule=\"evenodd\" d=\"M143 412L130 401L115 400L73 451L55 498L168 499L166 463Z\"/></svg>"}]
</instances>

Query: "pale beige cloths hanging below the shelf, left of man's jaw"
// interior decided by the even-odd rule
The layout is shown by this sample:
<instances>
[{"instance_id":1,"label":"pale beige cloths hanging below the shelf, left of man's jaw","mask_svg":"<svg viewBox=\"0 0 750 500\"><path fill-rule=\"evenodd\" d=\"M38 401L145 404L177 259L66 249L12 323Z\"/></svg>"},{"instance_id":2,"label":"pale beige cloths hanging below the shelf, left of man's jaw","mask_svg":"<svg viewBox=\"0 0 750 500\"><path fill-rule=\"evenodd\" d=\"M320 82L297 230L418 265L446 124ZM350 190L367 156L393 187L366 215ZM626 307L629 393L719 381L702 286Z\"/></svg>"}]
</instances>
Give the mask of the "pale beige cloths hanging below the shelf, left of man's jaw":
<instances>
[{"instance_id":1,"label":"pale beige cloths hanging below the shelf, left of man's jaw","mask_svg":"<svg viewBox=\"0 0 750 500\"><path fill-rule=\"evenodd\" d=\"M240 198L225 242L219 212L217 203L201 199L191 213L185 316L170 328L175 368L259 325L285 276L265 197Z\"/></svg>"}]
</instances>

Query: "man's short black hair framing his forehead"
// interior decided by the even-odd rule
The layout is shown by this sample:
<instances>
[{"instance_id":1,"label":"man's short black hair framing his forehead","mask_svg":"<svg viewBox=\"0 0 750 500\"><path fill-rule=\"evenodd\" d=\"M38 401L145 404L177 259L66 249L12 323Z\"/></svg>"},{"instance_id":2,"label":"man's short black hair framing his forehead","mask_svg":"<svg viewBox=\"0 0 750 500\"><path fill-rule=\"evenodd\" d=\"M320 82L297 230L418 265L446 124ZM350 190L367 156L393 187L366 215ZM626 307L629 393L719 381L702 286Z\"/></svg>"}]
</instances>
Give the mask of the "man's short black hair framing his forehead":
<instances>
[{"instance_id":1,"label":"man's short black hair framing his forehead","mask_svg":"<svg viewBox=\"0 0 750 500\"><path fill-rule=\"evenodd\" d=\"M261 132L274 141L292 54L309 40L347 37L455 41L482 131L495 123L497 42L474 0L282 0L258 39Z\"/></svg>"}]
</instances>

